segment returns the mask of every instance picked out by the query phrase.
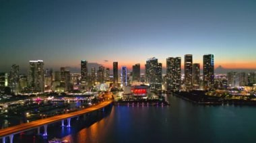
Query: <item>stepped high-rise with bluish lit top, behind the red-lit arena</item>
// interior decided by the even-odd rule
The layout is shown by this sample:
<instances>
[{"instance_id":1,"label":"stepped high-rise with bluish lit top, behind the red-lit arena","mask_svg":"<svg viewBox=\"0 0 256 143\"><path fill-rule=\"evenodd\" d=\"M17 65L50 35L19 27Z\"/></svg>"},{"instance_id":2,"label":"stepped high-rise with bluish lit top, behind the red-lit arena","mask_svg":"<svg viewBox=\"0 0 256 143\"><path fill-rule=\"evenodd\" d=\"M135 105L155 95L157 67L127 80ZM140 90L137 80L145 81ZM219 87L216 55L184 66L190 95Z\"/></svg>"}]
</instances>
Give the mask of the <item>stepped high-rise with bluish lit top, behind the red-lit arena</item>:
<instances>
[{"instance_id":1,"label":"stepped high-rise with bluish lit top, behind the red-lit arena","mask_svg":"<svg viewBox=\"0 0 256 143\"><path fill-rule=\"evenodd\" d=\"M146 82L154 90L162 89L162 64L157 58L149 58L145 65Z\"/></svg>"}]
</instances>

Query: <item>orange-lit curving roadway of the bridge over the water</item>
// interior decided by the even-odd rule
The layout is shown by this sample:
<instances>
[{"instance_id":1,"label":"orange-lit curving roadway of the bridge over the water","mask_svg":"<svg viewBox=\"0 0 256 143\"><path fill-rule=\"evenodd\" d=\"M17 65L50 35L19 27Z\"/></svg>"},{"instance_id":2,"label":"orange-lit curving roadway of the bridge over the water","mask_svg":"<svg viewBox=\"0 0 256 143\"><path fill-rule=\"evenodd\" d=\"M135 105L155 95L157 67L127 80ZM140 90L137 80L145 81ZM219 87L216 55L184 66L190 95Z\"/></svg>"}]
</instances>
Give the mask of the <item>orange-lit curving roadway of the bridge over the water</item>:
<instances>
[{"instance_id":1,"label":"orange-lit curving roadway of the bridge over the water","mask_svg":"<svg viewBox=\"0 0 256 143\"><path fill-rule=\"evenodd\" d=\"M45 119L42 119L42 120L36 120L36 121L33 121L33 122L29 122L29 123L20 124L20 125L17 125L17 126L12 126L12 127L9 127L9 128L5 128L3 130L0 130L0 138L3 138L5 136L9 136L11 134L18 134L20 132L24 132L24 131L27 131L27 130L32 130L32 129L38 128L40 126L44 126L46 124L52 124L52 123L55 123L55 122L59 122L61 120L65 120L65 119L70 118L70 117L76 117L78 115L83 115L84 113L90 113L92 111L96 111L98 109L106 107L107 105L110 105L110 103L112 103L112 102L113 102L113 100L102 101L102 103L99 103L97 105L93 105L91 107L88 107L86 109L82 109L82 110L79 110L79 111L74 111L74 112L71 112L71 113L65 113L65 114L62 114L62 115L55 115L53 117L48 117L48 118L45 118Z\"/></svg>"}]
</instances>

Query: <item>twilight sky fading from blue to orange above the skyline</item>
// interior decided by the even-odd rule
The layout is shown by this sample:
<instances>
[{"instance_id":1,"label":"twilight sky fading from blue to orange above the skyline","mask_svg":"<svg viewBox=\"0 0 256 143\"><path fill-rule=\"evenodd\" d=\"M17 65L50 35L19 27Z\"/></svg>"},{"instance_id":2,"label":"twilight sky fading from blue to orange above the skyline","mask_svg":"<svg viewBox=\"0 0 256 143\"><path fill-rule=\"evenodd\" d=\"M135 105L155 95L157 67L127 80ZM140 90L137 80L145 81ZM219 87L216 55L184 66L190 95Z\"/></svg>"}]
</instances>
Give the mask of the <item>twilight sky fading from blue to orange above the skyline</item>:
<instances>
[{"instance_id":1,"label":"twilight sky fading from blue to orange above the skyline","mask_svg":"<svg viewBox=\"0 0 256 143\"><path fill-rule=\"evenodd\" d=\"M82 59L112 68L155 56L166 66L185 54L256 69L255 26L255 0L0 0L0 71L37 59L47 68L79 68Z\"/></svg>"}]
</instances>

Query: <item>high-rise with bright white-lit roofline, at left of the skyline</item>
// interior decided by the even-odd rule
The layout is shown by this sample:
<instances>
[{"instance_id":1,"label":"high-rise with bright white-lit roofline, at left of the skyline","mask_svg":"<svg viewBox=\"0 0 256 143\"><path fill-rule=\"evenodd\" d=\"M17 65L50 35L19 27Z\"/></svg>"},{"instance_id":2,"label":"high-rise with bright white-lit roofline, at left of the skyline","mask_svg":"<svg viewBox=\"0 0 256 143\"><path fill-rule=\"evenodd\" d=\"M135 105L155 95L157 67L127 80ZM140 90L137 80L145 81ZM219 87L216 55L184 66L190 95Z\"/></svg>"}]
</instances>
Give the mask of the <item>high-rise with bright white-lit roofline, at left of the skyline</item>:
<instances>
[{"instance_id":1,"label":"high-rise with bright white-lit roofline, at left of the skyline","mask_svg":"<svg viewBox=\"0 0 256 143\"><path fill-rule=\"evenodd\" d=\"M44 62L30 60L28 85L34 92L44 92Z\"/></svg>"}]
</instances>

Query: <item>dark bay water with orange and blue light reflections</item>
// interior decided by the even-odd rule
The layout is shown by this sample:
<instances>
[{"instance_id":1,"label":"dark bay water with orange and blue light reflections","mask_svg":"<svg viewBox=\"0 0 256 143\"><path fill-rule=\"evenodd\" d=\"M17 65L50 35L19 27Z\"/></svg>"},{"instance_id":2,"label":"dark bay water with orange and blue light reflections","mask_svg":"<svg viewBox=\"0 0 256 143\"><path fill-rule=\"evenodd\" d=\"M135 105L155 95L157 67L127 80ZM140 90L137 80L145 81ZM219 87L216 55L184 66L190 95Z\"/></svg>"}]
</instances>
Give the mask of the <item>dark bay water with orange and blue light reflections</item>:
<instances>
[{"instance_id":1,"label":"dark bay water with orange and blue light reflections","mask_svg":"<svg viewBox=\"0 0 256 143\"><path fill-rule=\"evenodd\" d=\"M113 106L96 111L71 128L53 124L48 139L71 142L256 142L256 107L203 106L168 96L170 106ZM43 129L42 131L43 132ZM36 130L15 142L46 142Z\"/></svg>"}]
</instances>

